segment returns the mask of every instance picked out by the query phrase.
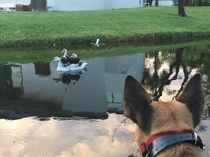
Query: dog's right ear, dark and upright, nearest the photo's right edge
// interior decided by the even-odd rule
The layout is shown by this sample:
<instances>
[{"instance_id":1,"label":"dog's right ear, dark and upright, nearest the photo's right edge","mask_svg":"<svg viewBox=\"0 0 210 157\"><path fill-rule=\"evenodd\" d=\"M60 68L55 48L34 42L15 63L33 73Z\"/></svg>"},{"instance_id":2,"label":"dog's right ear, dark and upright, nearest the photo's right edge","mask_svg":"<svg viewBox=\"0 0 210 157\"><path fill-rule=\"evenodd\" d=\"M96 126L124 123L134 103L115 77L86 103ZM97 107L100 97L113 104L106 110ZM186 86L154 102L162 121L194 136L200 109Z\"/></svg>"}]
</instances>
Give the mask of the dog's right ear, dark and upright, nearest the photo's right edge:
<instances>
[{"instance_id":1,"label":"dog's right ear, dark and upright, nearest the photo's right edge","mask_svg":"<svg viewBox=\"0 0 210 157\"><path fill-rule=\"evenodd\" d=\"M194 75L188 81L177 100L187 105L193 116L193 125L196 127L201 121L204 109L204 94L200 74Z\"/></svg>"}]
</instances>

